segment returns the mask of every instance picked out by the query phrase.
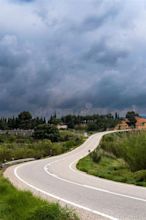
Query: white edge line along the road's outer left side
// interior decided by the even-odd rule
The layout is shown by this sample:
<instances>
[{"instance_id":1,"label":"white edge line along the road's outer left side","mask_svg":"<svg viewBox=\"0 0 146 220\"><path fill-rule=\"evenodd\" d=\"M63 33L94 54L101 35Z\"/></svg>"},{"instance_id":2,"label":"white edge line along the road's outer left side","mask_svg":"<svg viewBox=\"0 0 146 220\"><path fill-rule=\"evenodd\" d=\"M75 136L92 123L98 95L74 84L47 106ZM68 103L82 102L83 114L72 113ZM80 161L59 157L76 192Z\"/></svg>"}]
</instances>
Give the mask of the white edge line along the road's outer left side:
<instances>
[{"instance_id":1,"label":"white edge line along the road's outer left side","mask_svg":"<svg viewBox=\"0 0 146 220\"><path fill-rule=\"evenodd\" d=\"M110 216L110 215L106 215L106 214L104 214L104 213L102 213L102 212L98 212L98 211L93 210L93 209L90 209L90 208L88 208L88 207L79 205L79 204L77 204L77 203L71 202L71 201L66 200L66 199L63 199L63 198L61 198L61 197L59 197L59 196L56 196L56 195L51 194L51 193L48 193L48 192L46 192L46 191L44 191L44 190L42 190L42 189L39 189L38 187L36 187L36 186L34 186L34 185L32 185L32 184L26 182L26 181L25 181L24 179L22 179L22 178L18 175L18 173L17 173L18 169L19 169L20 167L24 166L24 165L26 165L26 164L22 164L22 165L17 166L17 167L14 169L14 175L16 176L17 179L19 179L21 182L23 182L25 185L29 186L30 188L32 188L32 189L34 189L34 190L36 190L36 191L38 191L38 192L40 192L40 193L43 193L43 194L45 194L45 195L47 195L47 196L53 197L53 198L55 198L55 199L57 199L57 200L60 200L60 201L62 201L62 202L64 202L64 203L70 204L70 205L72 205L72 206L74 206L74 207L77 207L77 208L80 208L80 209L84 209L84 210L86 210L86 211L92 212L92 213L94 213L94 214L100 215L100 216L102 216L102 217L105 217L105 218L108 218L108 219L111 219L111 220L118 220L118 218L114 218L114 217L112 217L112 216Z\"/></svg>"}]
</instances>

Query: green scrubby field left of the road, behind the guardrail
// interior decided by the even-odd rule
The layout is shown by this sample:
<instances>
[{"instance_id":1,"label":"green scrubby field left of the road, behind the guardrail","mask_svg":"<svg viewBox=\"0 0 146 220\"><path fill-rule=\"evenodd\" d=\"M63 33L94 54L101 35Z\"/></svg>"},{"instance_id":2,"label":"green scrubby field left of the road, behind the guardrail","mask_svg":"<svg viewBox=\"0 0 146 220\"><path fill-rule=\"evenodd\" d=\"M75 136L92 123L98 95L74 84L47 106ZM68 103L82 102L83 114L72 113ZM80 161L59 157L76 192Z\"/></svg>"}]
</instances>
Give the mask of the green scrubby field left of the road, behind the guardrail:
<instances>
[{"instance_id":1,"label":"green scrubby field left of the road, behind the guardrail","mask_svg":"<svg viewBox=\"0 0 146 220\"><path fill-rule=\"evenodd\" d=\"M69 151L83 142L81 134L71 131L60 132L60 142L48 139L33 139L18 135L0 135L0 163L22 158L43 158Z\"/></svg>"}]
</instances>

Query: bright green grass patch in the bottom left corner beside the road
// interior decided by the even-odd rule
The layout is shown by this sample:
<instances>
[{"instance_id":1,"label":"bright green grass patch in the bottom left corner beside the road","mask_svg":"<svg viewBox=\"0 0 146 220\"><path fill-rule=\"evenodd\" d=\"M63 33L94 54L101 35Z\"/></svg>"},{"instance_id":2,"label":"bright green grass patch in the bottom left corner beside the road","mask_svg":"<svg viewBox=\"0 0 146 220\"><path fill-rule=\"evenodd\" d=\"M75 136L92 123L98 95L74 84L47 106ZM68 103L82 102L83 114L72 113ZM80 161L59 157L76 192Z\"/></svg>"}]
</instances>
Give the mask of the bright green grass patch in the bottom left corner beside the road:
<instances>
[{"instance_id":1,"label":"bright green grass patch in the bottom left corner beside the road","mask_svg":"<svg viewBox=\"0 0 146 220\"><path fill-rule=\"evenodd\" d=\"M17 190L0 173L0 220L79 220L68 208Z\"/></svg>"}]
</instances>

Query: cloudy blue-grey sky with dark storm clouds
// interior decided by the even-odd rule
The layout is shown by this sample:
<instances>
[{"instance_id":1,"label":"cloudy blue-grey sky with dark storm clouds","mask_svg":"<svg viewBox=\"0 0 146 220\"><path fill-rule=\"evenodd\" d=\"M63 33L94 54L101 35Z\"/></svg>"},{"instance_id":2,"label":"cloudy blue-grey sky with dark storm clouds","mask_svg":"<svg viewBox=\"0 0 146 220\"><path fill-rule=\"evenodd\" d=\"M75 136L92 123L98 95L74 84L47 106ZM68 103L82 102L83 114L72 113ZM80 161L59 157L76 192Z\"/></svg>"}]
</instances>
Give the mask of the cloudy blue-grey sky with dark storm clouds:
<instances>
[{"instance_id":1,"label":"cloudy blue-grey sky with dark storm clouds","mask_svg":"<svg viewBox=\"0 0 146 220\"><path fill-rule=\"evenodd\" d=\"M146 112L145 0L0 0L0 115Z\"/></svg>"}]
</instances>

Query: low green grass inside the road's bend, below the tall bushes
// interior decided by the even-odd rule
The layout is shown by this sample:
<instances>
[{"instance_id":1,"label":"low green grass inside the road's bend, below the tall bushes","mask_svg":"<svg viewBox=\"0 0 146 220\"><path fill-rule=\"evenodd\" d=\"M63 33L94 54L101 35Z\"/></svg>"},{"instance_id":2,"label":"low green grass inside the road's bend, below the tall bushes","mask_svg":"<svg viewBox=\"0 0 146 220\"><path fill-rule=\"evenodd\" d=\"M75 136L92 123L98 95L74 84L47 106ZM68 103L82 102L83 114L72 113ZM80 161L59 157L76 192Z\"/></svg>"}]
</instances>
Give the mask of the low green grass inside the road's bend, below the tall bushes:
<instances>
[{"instance_id":1,"label":"low green grass inside the road's bend, below the tall bushes","mask_svg":"<svg viewBox=\"0 0 146 220\"><path fill-rule=\"evenodd\" d=\"M91 156L87 156L78 162L77 168L101 178L146 186L146 170L132 172L123 159L103 155L97 163Z\"/></svg>"}]
</instances>

